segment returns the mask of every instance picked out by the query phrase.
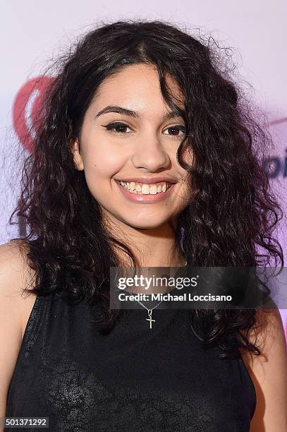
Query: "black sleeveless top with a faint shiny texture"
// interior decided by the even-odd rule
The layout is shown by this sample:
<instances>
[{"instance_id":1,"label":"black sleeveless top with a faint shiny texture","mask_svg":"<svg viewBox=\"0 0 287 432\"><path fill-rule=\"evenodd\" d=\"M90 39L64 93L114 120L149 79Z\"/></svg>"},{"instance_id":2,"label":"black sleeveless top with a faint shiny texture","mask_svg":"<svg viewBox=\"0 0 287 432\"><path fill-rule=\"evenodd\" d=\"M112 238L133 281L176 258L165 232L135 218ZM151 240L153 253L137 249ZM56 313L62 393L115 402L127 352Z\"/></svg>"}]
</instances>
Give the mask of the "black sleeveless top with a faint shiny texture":
<instances>
[{"instance_id":1,"label":"black sleeveless top with a faint shiny texture","mask_svg":"<svg viewBox=\"0 0 287 432\"><path fill-rule=\"evenodd\" d=\"M154 308L152 329L145 308L122 312L102 335L85 301L37 296L6 417L49 417L49 431L250 430L256 393L241 358L226 361L218 347L204 347L186 309Z\"/></svg>"}]
</instances>

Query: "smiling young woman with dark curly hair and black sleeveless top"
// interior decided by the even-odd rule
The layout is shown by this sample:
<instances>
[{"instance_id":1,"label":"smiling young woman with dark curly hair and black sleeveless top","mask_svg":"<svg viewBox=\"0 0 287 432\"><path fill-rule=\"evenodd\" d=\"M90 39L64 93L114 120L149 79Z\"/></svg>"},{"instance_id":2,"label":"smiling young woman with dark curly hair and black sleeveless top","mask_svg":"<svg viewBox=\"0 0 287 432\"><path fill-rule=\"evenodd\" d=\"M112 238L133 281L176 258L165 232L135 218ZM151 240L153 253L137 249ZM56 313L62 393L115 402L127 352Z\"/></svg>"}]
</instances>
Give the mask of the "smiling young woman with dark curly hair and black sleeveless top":
<instances>
[{"instance_id":1,"label":"smiling young woman with dark curly hair and black sleeveless top","mask_svg":"<svg viewBox=\"0 0 287 432\"><path fill-rule=\"evenodd\" d=\"M154 307L150 327L145 305L109 308L111 267L283 265L268 135L217 54L174 25L121 21L62 59L23 170L29 232L0 248L1 416L287 430L277 309Z\"/></svg>"}]
</instances>

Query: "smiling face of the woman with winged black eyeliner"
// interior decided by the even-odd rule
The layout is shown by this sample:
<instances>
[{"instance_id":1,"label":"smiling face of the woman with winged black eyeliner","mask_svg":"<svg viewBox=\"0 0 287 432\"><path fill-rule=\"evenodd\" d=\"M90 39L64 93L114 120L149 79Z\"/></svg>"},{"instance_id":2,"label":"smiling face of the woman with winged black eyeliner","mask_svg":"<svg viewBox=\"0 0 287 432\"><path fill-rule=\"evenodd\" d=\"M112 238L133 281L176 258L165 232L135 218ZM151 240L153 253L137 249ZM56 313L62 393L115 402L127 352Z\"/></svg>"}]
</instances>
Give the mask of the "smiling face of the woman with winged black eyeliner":
<instances>
[{"instance_id":1,"label":"smiling face of the woman with winged black eyeliner","mask_svg":"<svg viewBox=\"0 0 287 432\"><path fill-rule=\"evenodd\" d=\"M172 94L179 95L169 78ZM77 169L112 221L151 229L174 220L188 205L185 170L176 150L183 119L166 106L154 66L126 66L106 78L72 144Z\"/></svg>"}]
</instances>

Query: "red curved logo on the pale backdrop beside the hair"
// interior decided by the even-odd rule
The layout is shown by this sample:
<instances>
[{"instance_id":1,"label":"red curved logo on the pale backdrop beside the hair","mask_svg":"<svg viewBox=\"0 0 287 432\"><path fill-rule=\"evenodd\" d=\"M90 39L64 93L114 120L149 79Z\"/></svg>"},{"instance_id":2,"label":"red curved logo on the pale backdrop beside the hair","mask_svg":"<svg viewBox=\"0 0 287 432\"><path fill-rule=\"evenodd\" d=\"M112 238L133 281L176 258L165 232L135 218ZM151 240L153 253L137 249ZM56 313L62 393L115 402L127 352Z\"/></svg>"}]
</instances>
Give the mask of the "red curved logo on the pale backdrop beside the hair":
<instances>
[{"instance_id":1,"label":"red curved logo on the pale backdrop beside the hair","mask_svg":"<svg viewBox=\"0 0 287 432\"><path fill-rule=\"evenodd\" d=\"M20 143L32 152L37 125L41 121L39 110L52 78L39 76L25 83L13 103L13 125Z\"/></svg>"}]
</instances>

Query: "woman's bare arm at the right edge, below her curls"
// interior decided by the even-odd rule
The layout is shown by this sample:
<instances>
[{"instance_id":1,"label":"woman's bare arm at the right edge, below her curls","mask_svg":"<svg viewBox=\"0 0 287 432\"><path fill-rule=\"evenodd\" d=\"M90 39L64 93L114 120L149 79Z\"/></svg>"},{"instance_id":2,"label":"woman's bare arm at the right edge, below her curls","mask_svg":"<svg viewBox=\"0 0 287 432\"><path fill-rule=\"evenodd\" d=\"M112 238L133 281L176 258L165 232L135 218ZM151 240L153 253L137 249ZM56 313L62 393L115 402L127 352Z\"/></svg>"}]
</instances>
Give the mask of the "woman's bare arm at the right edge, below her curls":
<instances>
[{"instance_id":1,"label":"woman's bare arm at the right edge, below her curls","mask_svg":"<svg viewBox=\"0 0 287 432\"><path fill-rule=\"evenodd\" d=\"M242 355L257 395L250 432L287 431L287 347L278 308L257 310L249 337L261 353Z\"/></svg>"}]
</instances>

